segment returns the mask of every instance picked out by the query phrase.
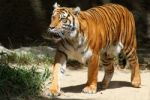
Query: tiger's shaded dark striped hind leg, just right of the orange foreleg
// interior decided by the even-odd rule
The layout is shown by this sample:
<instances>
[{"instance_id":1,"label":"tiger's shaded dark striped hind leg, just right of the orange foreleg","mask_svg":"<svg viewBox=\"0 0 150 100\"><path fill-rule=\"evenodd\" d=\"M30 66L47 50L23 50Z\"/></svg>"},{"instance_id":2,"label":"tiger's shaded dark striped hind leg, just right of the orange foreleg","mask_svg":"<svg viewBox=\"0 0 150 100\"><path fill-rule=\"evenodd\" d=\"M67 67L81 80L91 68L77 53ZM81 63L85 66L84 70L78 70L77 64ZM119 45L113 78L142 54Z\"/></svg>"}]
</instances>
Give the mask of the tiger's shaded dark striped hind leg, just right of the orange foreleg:
<instances>
[{"instance_id":1,"label":"tiger's shaded dark striped hind leg, just right of the orange foreleg","mask_svg":"<svg viewBox=\"0 0 150 100\"><path fill-rule=\"evenodd\" d=\"M102 81L102 89L106 89L109 86L110 80L112 79L114 73L113 57L107 55L107 53L102 54L102 65L105 69L105 75Z\"/></svg>"}]
</instances>

